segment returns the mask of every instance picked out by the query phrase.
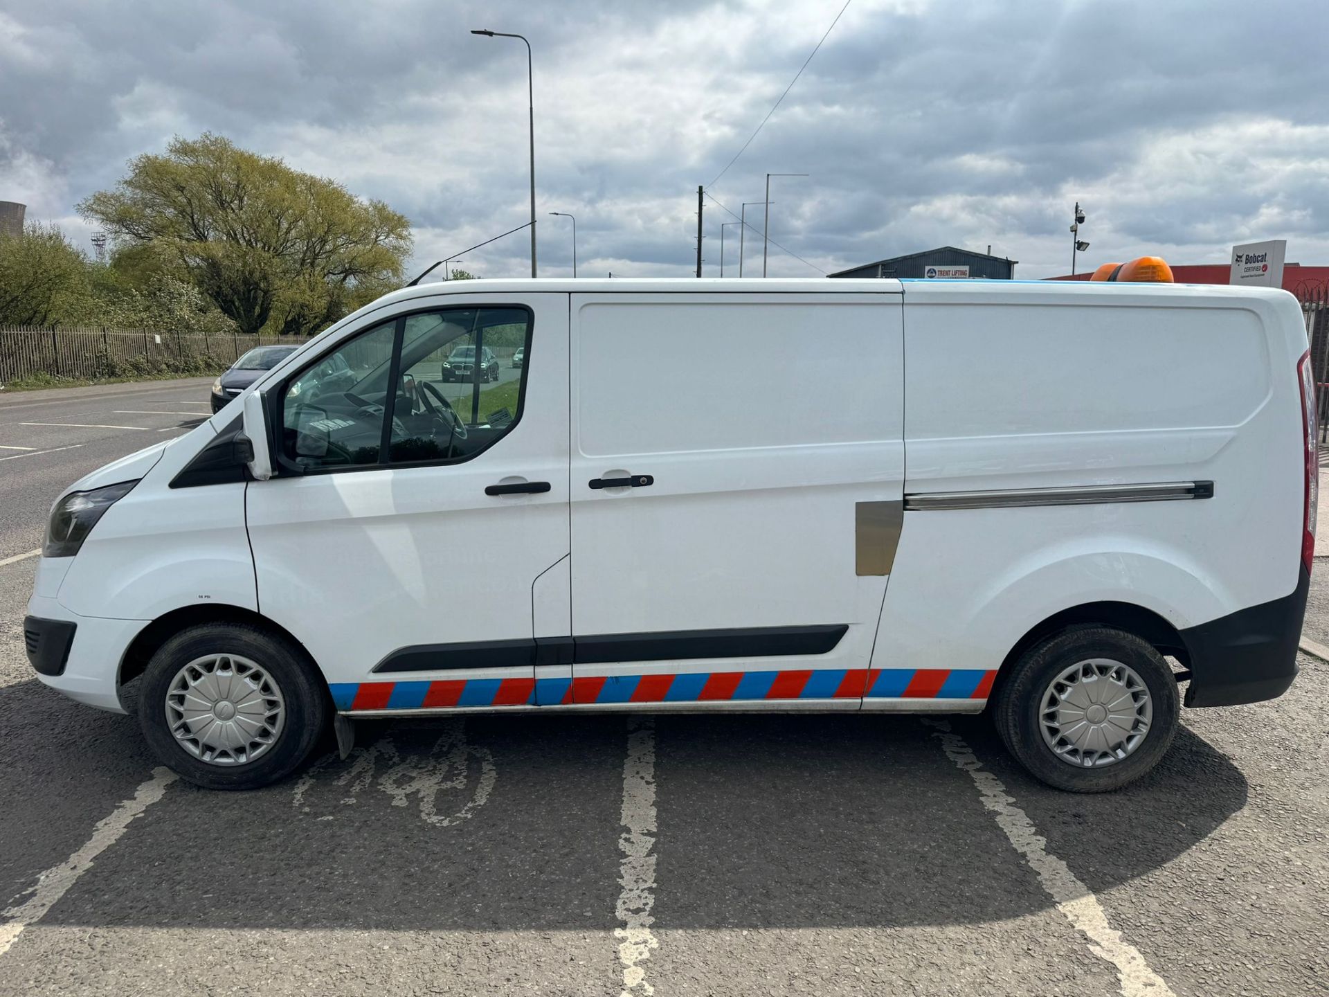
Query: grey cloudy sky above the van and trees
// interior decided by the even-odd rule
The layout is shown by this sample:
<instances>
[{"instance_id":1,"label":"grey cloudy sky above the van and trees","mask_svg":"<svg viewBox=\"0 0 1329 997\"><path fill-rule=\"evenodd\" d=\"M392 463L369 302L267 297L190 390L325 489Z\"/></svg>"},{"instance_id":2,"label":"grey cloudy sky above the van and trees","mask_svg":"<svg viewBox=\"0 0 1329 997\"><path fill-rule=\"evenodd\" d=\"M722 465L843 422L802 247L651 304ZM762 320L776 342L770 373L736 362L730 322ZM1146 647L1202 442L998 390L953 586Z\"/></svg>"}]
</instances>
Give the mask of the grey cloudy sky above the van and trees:
<instances>
[{"instance_id":1,"label":"grey cloudy sky above the van and trees","mask_svg":"<svg viewBox=\"0 0 1329 997\"><path fill-rule=\"evenodd\" d=\"M771 237L807 261L772 247L776 275L940 245L1066 273L1075 201L1082 267L1261 238L1329 263L1325 0L852 0L712 185L841 5L0 0L0 199L86 245L78 199L211 130L404 211L423 267L528 218L526 52L468 33L492 28L534 48L542 277L571 273L548 211L577 215L583 277L686 275L696 186L736 213L768 170L811 174L772 181ZM722 221L708 201L707 274ZM524 275L529 239L460 266Z\"/></svg>"}]
</instances>

